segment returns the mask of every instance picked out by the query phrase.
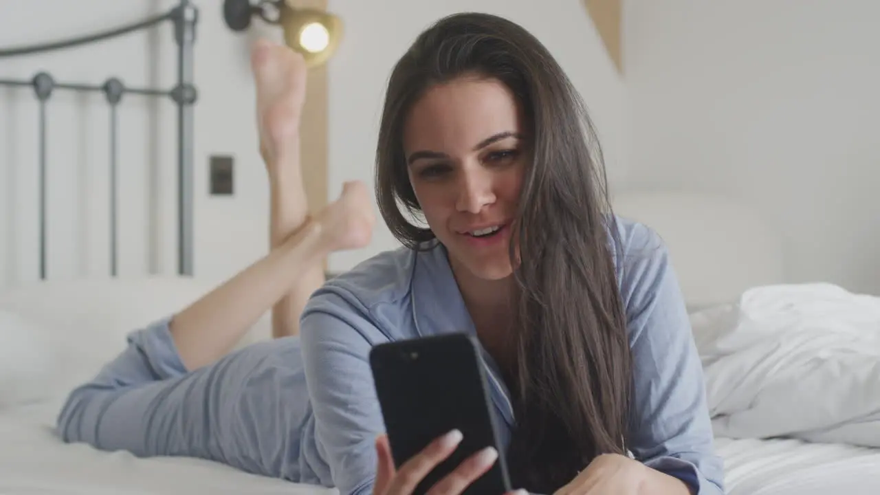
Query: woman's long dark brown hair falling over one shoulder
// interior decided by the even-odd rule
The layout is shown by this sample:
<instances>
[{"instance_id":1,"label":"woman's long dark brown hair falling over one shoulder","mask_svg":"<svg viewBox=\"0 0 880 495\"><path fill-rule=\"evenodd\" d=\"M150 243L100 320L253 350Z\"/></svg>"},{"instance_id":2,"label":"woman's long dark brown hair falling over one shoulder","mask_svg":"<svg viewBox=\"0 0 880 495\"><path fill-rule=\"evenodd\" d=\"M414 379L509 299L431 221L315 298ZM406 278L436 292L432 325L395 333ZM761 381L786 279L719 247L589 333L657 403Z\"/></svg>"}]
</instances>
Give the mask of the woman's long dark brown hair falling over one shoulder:
<instances>
[{"instance_id":1,"label":"woman's long dark brown hair falling over one shoulder","mask_svg":"<svg viewBox=\"0 0 880 495\"><path fill-rule=\"evenodd\" d=\"M632 365L602 152L583 100L532 34L504 18L462 13L414 41L388 83L378 137L378 206L405 245L417 248L434 238L404 215L420 210L402 130L410 107L431 85L471 75L510 88L531 136L533 156L510 250L517 282L510 362L516 367L504 372L517 424L507 456L517 487L549 493L598 454L626 453Z\"/></svg>"}]
</instances>

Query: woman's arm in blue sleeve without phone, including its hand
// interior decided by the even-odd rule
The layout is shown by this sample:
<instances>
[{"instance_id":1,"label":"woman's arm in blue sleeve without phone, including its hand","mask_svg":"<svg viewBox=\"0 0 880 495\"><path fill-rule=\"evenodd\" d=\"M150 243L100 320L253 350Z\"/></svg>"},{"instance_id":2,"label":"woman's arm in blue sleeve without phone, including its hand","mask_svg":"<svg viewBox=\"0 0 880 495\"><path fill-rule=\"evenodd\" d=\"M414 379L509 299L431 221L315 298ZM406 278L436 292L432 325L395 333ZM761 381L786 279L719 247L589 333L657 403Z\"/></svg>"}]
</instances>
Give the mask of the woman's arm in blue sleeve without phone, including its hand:
<instances>
[{"instance_id":1,"label":"woman's arm in blue sleeve without phone, including its hand","mask_svg":"<svg viewBox=\"0 0 880 495\"><path fill-rule=\"evenodd\" d=\"M643 225L621 233L621 297L633 354L629 449L599 455L554 495L722 495L702 366L666 249Z\"/></svg>"}]
</instances>

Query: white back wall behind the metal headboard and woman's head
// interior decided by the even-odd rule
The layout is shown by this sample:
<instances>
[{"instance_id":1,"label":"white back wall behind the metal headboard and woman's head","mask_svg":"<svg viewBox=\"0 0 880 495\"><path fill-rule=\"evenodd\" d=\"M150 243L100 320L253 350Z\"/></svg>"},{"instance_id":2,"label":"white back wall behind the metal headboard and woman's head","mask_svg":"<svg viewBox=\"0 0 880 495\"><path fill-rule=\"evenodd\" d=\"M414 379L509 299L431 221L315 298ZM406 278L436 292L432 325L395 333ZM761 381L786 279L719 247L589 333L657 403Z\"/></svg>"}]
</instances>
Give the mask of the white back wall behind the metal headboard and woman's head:
<instances>
[{"instance_id":1,"label":"white back wall behind the metal headboard and woman's head","mask_svg":"<svg viewBox=\"0 0 880 495\"><path fill-rule=\"evenodd\" d=\"M0 47L67 38L165 11L174 0L32 0L5 6ZM224 26L222 3L198 0L195 44L195 271L231 276L267 248L268 188L253 126L248 40L279 30L254 22L247 35ZM378 113L392 64L429 23L454 11L509 16L554 51L593 110L612 176L623 170L624 94L581 0L331 0L346 36L329 67L329 188L362 179L372 185ZM52 15L46 15L51 12ZM169 87L175 77L171 25L75 51L0 59L0 78L31 78L42 68L68 82ZM175 258L175 119L170 100L126 96L121 110L121 274L173 273ZM107 116L102 96L58 92L49 107L49 276L104 276L107 266ZM38 277L37 120L33 94L0 88L0 288ZM208 195L208 157L236 158L235 196ZM158 213L152 213L158 211ZM151 232L160 233L150 248ZM343 270L396 247L384 226L369 248L335 255ZM155 251L155 254L153 253Z\"/></svg>"}]
</instances>

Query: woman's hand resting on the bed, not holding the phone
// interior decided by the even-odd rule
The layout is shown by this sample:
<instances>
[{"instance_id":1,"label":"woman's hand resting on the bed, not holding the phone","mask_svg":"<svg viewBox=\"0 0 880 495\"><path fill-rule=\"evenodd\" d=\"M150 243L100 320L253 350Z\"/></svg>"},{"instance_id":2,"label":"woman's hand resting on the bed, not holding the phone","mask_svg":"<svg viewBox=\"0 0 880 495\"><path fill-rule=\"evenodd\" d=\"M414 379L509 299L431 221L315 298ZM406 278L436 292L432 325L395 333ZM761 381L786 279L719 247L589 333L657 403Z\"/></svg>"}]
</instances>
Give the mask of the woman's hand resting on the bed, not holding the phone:
<instances>
[{"instance_id":1,"label":"woman's hand resting on the bed, not holding the phone","mask_svg":"<svg viewBox=\"0 0 880 495\"><path fill-rule=\"evenodd\" d=\"M626 455L602 454L554 495L640 495L647 469Z\"/></svg>"}]
</instances>

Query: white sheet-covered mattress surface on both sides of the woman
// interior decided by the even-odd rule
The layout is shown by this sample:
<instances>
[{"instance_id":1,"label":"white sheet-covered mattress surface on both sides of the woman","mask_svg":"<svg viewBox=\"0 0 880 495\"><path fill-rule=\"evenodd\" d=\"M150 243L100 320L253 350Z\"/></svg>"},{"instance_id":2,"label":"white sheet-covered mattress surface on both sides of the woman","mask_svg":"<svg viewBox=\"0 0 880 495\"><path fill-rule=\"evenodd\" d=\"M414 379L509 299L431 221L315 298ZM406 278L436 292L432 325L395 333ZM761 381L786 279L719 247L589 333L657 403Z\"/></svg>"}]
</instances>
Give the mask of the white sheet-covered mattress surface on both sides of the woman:
<instances>
[{"instance_id":1,"label":"white sheet-covered mattress surface on both sides of the woman","mask_svg":"<svg viewBox=\"0 0 880 495\"><path fill-rule=\"evenodd\" d=\"M59 402L0 412L0 493L39 495L330 495L317 486L253 476L216 462L140 459L67 445L52 432ZM730 495L880 493L880 450L800 440L716 439Z\"/></svg>"}]
</instances>

